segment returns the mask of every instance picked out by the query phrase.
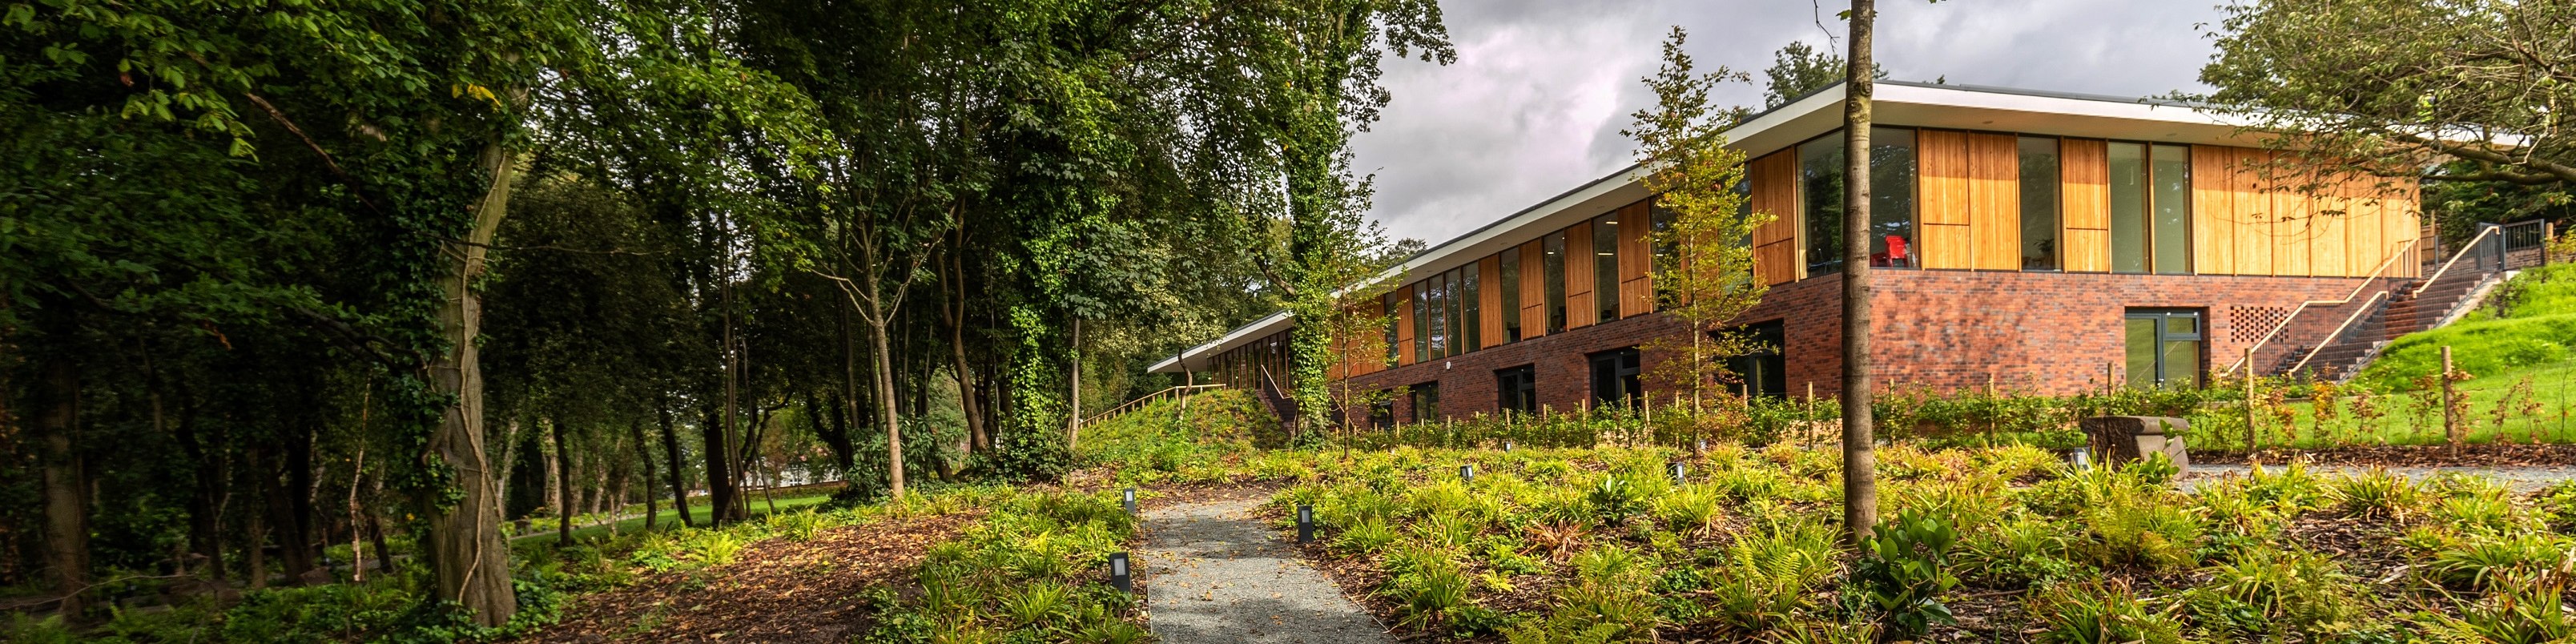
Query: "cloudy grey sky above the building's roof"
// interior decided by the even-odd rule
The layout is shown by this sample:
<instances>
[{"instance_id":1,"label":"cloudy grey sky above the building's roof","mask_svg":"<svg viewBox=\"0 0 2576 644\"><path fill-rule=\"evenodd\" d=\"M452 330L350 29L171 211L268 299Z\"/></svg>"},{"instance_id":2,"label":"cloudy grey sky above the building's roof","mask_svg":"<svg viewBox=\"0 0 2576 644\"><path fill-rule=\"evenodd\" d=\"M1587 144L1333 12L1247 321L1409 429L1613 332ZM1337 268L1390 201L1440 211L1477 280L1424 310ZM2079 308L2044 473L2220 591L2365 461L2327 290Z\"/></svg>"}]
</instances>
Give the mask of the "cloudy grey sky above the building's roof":
<instances>
[{"instance_id":1,"label":"cloudy grey sky above the building's roof","mask_svg":"<svg viewBox=\"0 0 2576 644\"><path fill-rule=\"evenodd\" d=\"M2202 23L2218 0L1880 0L1878 62L1891 80L2159 95L2202 90ZM1790 41L1826 44L1808 0L1450 0L1458 64L1386 62L1394 106L1360 134L1370 211L1394 237L1445 242L1631 162L1628 113L1646 106L1669 26L1700 70L1759 77ZM1824 0L1824 28L1842 44ZM1839 49L1839 46L1837 46ZM1718 100L1759 108L1762 88Z\"/></svg>"}]
</instances>

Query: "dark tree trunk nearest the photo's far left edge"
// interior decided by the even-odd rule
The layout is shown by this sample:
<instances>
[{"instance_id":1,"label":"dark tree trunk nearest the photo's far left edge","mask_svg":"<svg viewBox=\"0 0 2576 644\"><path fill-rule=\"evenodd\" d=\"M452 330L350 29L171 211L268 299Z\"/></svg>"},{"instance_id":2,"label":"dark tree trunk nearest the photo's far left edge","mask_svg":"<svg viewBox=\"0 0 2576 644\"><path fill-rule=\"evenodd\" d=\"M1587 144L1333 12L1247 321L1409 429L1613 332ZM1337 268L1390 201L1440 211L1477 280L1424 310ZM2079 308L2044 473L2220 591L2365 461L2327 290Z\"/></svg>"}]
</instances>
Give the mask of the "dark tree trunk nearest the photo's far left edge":
<instances>
[{"instance_id":1,"label":"dark tree trunk nearest the photo's far left edge","mask_svg":"<svg viewBox=\"0 0 2576 644\"><path fill-rule=\"evenodd\" d=\"M59 317L67 317L62 312ZM54 335L70 340L72 325ZM36 402L36 443L44 451L44 567L62 595L62 613L80 618L90 587L90 495L80 451L80 366L72 355L44 355Z\"/></svg>"}]
</instances>

